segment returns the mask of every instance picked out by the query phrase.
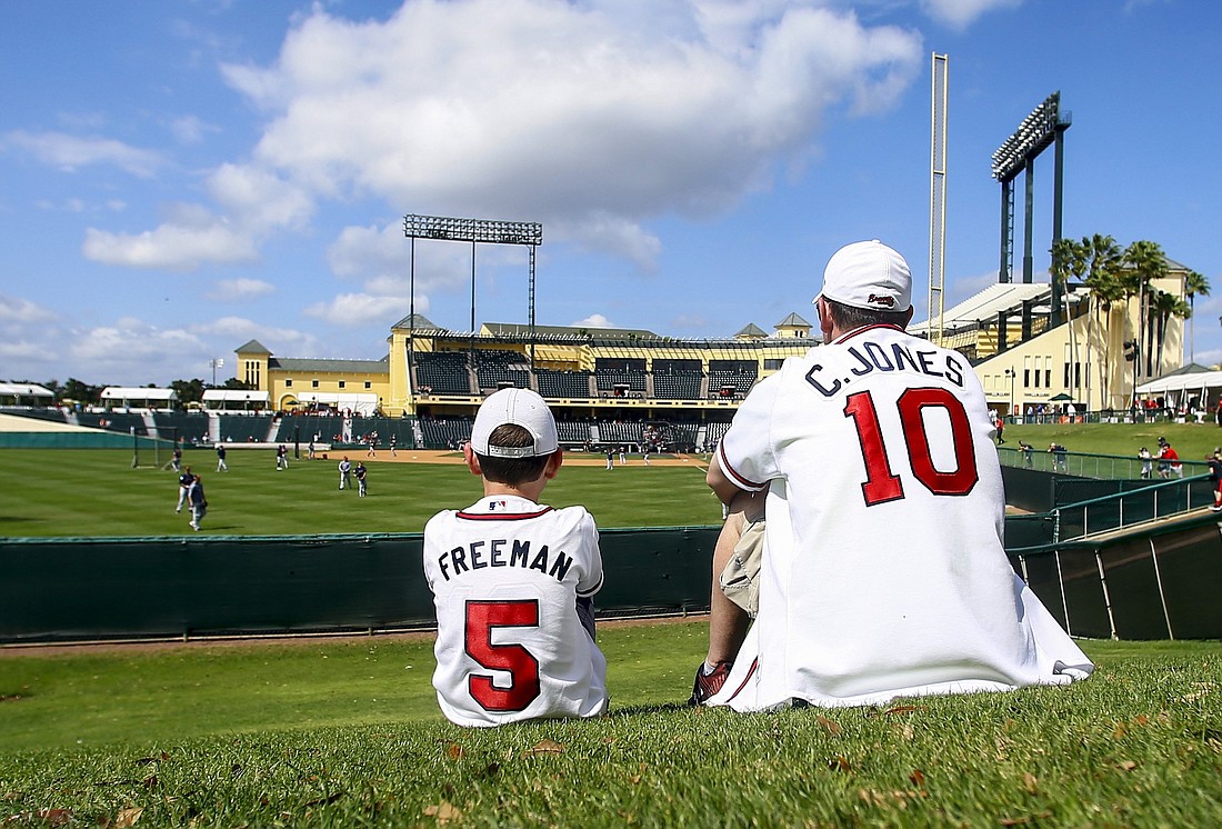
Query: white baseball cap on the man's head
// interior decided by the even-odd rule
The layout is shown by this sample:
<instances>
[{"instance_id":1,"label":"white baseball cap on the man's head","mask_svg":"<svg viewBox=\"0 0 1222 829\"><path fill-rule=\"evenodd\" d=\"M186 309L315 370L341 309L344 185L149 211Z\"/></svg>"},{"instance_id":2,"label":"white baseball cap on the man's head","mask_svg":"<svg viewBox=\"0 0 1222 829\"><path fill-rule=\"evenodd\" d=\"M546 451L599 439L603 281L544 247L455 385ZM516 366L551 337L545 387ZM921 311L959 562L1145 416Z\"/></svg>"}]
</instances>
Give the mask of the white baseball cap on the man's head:
<instances>
[{"instance_id":1,"label":"white baseball cap on the man's head","mask_svg":"<svg viewBox=\"0 0 1222 829\"><path fill-rule=\"evenodd\" d=\"M913 275L904 258L879 240L853 242L827 262L819 296L851 308L908 311Z\"/></svg>"}]
</instances>

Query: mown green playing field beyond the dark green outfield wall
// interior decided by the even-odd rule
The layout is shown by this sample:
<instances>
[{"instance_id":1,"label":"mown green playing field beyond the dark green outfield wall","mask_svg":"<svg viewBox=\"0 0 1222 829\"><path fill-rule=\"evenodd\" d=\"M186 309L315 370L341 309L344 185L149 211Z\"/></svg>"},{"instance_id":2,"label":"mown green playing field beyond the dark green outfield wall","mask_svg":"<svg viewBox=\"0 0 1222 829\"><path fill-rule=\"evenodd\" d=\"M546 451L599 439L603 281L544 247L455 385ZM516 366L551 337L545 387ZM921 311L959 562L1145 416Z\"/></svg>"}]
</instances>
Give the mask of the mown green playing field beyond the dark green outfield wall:
<instances>
[{"instance_id":1,"label":"mown green playing field beyond the dark green outfield wall","mask_svg":"<svg viewBox=\"0 0 1222 829\"><path fill-rule=\"evenodd\" d=\"M359 459L360 455L353 455ZM211 451L188 450L185 463L204 481L204 531L224 536L422 532L437 510L481 494L459 465L370 461L369 496L338 489L337 460L293 461L277 472L270 450L229 452L215 472ZM0 537L163 537L192 534L189 512L175 514L177 476L131 468L127 450L0 450ZM600 527L704 526L721 520L699 461L637 463L607 472L569 465L544 501L582 504Z\"/></svg>"}]
</instances>

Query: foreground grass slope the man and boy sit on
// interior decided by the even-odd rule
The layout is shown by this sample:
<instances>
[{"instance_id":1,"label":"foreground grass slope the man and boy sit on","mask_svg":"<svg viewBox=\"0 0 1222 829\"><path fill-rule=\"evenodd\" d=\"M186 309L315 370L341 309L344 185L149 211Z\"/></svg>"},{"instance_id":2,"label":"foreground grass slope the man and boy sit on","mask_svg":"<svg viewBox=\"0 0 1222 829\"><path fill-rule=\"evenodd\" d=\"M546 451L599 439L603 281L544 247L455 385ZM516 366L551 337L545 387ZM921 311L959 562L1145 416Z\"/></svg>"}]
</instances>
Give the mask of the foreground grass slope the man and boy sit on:
<instances>
[{"instance_id":1,"label":"foreground grass slope the man and boy sit on","mask_svg":"<svg viewBox=\"0 0 1222 829\"><path fill-rule=\"evenodd\" d=\"M1222 644L1085 642L1068 687L687 709L706 625L600 630L611 715L442 721L429 643L0 657L0 823L1222 824ZM408 668L411 665L411 668Z\"/></svg>"}]
</instances>

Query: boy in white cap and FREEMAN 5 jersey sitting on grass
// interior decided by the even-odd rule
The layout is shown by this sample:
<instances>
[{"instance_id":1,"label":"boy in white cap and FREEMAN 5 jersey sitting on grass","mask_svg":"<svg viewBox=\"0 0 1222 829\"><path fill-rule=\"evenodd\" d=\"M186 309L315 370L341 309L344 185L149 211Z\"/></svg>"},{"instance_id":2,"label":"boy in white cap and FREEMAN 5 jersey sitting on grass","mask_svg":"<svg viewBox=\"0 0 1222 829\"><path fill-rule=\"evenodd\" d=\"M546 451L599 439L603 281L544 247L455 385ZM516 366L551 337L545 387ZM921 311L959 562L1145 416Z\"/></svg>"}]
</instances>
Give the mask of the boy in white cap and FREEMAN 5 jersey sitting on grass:
<instances>
[{"instance_id":1,"label":"boy in white cap and FREEMAN 5 jersey sitting on grass","mask_svg":"<svg viewBox=\"0 0 1222 829\"><path fill-rule=\"evenodd\" d=\"M539 504L563 460L547 405L529 389L490 395L463 455L484 496L424 528L441 712L467 726L602 714L599 533L584 507Z\"/></svg>"}]
</instances>

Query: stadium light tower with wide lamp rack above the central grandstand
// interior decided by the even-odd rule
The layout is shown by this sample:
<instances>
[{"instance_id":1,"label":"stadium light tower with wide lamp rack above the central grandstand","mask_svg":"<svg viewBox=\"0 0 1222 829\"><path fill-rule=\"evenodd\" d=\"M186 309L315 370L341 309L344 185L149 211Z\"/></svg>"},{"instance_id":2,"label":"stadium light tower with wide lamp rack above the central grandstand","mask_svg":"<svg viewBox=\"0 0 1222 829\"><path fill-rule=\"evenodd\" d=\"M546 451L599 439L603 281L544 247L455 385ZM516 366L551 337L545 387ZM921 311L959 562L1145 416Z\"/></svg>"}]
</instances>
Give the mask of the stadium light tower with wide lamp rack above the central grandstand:
<instances>
[{"instance_id":1,"label":"stadium light tower with wide lamp rack above the central grandstand","mask_svg":"<svg viewBox=\"0 0 1222 829\"><path fill-rule=\"evenodd\" d=\"M528 296L528 315L530 319L530 370L534 370L534 279L535 248L543 243L543 225L536 221L496 221L491 219L456 219L451 216L422 216L414 213L403 216L403 234L412 240L412 253L408 264L409 307L408 307L408 355L407 368L413 366L413 344L415 341L415 240L435 238L448 242L470 242L470 335L475 336L475 245L525 245L530 248L530 286ZM474 347L474 341L472 344ZM408 378L408 396L414 396Z\"/></svg>"}]
</instances>

